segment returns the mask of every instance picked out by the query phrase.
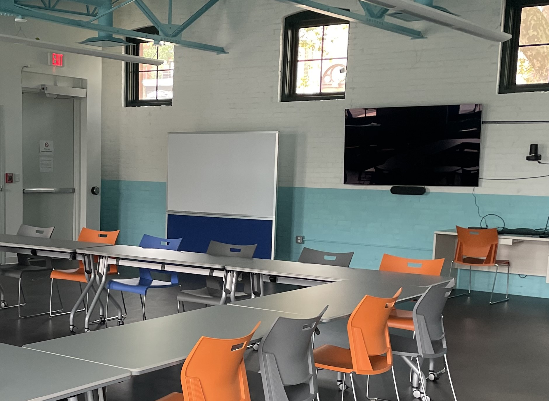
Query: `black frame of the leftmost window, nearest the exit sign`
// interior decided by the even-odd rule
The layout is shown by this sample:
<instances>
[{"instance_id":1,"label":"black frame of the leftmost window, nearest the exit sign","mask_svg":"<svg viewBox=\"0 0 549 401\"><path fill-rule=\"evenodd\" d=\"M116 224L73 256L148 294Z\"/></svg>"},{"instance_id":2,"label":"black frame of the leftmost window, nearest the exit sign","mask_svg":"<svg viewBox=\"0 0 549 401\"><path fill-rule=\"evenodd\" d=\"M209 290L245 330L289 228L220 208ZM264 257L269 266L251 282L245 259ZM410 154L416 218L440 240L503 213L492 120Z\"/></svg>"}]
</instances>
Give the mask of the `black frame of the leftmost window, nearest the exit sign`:
<instances>
[{"instance_id":1,"label":"black frame of the leftmost window, nearest the exit sign","mask_svg":"<svg viewBox=\"0 0 549 401\"><path fill-rule=\"evenodd\" d=\"M144 34L158 35L158 29L154 26L146 26L135 30ZM132 43L126 46L126 54L139 55L139 44L145 43L140 39L127 37L127 42ZM139 99L139 64L126 62L125 69L125 106L126 107L141 107L141 106L171 106L172 99ZM158 86L158 75L156 76Z\"/></svg>"}]
</instances>

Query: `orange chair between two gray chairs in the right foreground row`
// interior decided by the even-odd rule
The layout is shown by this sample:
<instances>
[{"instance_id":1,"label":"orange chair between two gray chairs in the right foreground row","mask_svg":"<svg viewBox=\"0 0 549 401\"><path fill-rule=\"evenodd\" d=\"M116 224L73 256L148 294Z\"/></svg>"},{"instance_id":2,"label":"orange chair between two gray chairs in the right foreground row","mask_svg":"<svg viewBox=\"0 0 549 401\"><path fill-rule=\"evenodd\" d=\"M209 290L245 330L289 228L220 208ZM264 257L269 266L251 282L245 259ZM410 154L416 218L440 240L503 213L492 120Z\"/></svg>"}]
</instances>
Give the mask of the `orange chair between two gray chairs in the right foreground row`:
<instances>
[{"instance_id":1,"label":"orange chair between two gray chairs in the right foreground row","mask_svg":"<svg viewBox=\"0 0 549 401\"><path fill-rule=\"evenodd\" d=\"M319 368L341 372L344 383L345 375L349 374L355 399L353 374L368 375L369 385L370 375L379 375L389 370L393 371L396 398L399 399L387 319L401 292L402 288L392 298L368 295L362 298L347 322L349 349L326 344L313 351L317 372Z\"/></svg>"}]
</instances>

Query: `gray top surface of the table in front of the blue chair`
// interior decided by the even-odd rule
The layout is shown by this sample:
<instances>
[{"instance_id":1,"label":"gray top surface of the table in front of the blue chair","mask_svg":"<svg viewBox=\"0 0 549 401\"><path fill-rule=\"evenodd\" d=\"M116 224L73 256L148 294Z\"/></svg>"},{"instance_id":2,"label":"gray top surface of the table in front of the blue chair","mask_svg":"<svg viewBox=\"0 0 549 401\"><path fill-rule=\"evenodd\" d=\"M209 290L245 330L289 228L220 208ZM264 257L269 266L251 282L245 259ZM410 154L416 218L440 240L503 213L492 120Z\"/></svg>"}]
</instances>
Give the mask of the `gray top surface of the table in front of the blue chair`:
<instances>
[{"instance_id":1,"label":"gray top surface of the table in front of the blue chair","mask_svg":"<svg viewBox=\"0 0 549 401\"><path fill-rule=\"evenodd\" d=\"M78 253L105 256L114 259L138 260L152 263L186 265L208 269L224 269L227 257L206 253L182 252L169 249L149 249L130 245L109 245L78 249Z\"/></svg>"}]
</instances>

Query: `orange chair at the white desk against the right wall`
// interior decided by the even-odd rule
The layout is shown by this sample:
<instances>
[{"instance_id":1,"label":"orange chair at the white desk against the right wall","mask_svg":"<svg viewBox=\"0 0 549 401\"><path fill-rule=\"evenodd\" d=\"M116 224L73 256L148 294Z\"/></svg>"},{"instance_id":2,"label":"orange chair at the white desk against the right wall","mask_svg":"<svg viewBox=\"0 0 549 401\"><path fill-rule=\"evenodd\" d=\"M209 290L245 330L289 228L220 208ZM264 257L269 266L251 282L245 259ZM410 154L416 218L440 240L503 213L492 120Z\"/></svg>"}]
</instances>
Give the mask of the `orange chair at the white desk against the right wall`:
<instances>
[{"instance_id":1,"label":"orange chair at the white desk against the right wall","mask_svg":"<svg viewBox=\"0 0 549 401\"><path fill-rule=\"evenodd\" d=\"M492 292L490 294L490 305L509 300L509 268L511 267L511 264L508 260L496 259L497 245L499 243L497 229L473 230L456 226L456 231L456 255L450 265L450 273L452 272L453 264L469 266L469 291L453 295L449 298L459 297L466 294L469 295L471 293L471 270L473 269L473 266L478 266L496 268L494 283L492 284ZM497 272L501 265L507 266L507 291L504 299L492 302L492 298L494 297L494 289L496 287Z\"/></svg>"}]
</instances>

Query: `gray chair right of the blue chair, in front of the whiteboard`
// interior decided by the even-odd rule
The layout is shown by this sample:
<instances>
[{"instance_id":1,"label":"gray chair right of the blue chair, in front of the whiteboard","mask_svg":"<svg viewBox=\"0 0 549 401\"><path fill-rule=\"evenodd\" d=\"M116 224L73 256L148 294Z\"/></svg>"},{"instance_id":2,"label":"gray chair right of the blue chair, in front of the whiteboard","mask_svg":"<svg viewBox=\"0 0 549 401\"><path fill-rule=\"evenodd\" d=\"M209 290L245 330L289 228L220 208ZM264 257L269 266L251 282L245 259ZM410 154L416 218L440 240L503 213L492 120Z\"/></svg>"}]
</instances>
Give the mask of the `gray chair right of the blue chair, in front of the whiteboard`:
<instances>
[{"instance_id":1,"label":"gray chair right of the blue chair, in front of the whiteboard","mask_svg":"<svg viewBox=\"0 0 549 401\"><path fill-rule=\"evenodd\" d=\"M232 245L223 242L210 241L206 253L214 256L229 256L238 258L253 258L255 248L254 245ZM219 305L223 299L223 281L218 277L206 276L204 287L198 289L184 289L177 294L177 313L179 313L180 305L185 311L183 302L195 302L199 304ZM251 279L249 274L240 274L237 281L237 291L235 299L245 299L251 294Z\"/></svg>"}]
</instances>

